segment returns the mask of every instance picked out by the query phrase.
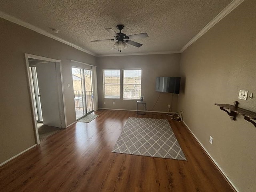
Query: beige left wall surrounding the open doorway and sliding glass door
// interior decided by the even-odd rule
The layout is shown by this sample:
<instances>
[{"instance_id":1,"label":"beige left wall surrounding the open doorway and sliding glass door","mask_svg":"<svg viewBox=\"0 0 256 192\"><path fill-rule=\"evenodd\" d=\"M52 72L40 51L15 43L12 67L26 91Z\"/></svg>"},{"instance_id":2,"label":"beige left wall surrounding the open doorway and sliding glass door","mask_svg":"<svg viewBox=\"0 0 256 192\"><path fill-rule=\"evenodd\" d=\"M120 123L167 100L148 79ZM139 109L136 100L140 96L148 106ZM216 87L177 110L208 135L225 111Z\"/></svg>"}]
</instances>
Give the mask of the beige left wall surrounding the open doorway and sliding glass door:
<instances>
[{"instance_id":1,"label":"beige left wall surrounding the open doorway and sliding glass door","mask_svg":"<svg viewBox=\"0 0 256 192\"><path fill-rule=\"evenodd\" d=\"M0 18L0 164L36 143L24 53L61 60L67 124L76 121L70 60L95 65L94 56Z\"/></svg>"}]
</instances>

